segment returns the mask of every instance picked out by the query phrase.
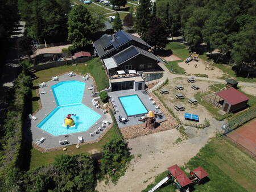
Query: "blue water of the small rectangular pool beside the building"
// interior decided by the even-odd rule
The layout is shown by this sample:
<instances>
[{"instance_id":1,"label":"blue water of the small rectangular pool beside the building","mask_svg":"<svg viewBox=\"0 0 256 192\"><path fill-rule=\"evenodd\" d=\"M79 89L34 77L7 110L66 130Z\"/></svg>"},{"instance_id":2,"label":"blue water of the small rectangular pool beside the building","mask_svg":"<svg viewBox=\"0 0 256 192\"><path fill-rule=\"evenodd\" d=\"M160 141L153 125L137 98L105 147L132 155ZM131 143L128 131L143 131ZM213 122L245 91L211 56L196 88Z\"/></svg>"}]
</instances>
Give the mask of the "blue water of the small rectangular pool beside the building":
<instances>
[{"instance_id":1,"label":"blue water of the small rectangular pool beside the building","mask_svg":"<svg viewBox=\"0 0 256 192\"><path fill-rule=\"evenodd\" d=\"M123 108L127 116L146 114L147 109L139 99L138 95L129 95L118 97L119 101L122 103Z\"/></svg>"}]
</instances>

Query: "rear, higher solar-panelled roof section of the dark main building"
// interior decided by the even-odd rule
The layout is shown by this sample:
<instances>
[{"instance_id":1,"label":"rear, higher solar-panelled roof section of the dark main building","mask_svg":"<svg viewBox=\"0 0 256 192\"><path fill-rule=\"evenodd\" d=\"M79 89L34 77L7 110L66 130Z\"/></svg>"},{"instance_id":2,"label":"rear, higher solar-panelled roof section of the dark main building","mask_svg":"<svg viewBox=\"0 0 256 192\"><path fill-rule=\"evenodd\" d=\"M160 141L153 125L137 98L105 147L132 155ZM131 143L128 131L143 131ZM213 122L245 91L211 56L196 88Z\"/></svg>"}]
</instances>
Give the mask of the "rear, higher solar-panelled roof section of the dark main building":
<instances>
[{"instance_id":1,"label":"rear, higher solar-panelled roof section of the dark main building","mask_svg":"<svg viewBox=\"0 0 256 192\"><path fill-rule=\"evenodd\" d=\"M105 34L93 43L93 46L101 59L112 57L130 45L135 45L144 50L151 48L150 45L141 38L128 34L125 31L118 31L113 35Z\"/></svg>"}]
</instances>

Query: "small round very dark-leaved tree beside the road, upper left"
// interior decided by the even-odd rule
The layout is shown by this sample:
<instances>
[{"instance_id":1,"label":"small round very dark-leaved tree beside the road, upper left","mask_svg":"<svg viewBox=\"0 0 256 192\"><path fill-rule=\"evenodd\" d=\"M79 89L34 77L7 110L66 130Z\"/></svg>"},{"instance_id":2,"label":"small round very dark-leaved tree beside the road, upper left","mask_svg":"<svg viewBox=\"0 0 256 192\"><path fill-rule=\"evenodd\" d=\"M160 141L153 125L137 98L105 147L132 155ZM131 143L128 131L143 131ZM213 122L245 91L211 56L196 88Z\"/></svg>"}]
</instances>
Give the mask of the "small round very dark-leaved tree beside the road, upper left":
<instances>
[{"instance_id":1,"label":"small round very dark-leaved tree beside the road, upper left","mask_svg":"<svg viewBox=\"0 0 256 192\"><path fill-rule=\"evenodd\" d=\"M16 47L18 48L20 56L31 56L33 54L30 38L22 36L19 37L19 39L16 42Z\"/></svg>"}]
</instances>

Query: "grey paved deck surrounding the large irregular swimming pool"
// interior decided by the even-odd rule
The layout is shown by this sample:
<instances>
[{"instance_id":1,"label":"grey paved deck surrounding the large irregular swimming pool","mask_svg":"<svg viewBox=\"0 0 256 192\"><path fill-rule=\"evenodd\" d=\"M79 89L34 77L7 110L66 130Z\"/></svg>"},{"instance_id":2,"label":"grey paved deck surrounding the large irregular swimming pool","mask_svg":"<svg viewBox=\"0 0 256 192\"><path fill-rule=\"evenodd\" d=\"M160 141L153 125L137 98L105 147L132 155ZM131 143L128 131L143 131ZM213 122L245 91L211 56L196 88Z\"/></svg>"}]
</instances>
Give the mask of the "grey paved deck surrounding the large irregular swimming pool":
<instances>
[{"instance_id":1,"label":"grey paved deck surrounding the large irregular swimming pool","mask_svg":"<svg viewBox=\"0 0 256 192\"><path fill-rule=\"evenodd\" d=\"M85 82L85 90L84 90L84 95L82 97L82 104L84 104L85 106L91 108L93 111L100 114L101 118L98 119L97 122L94 123L94 125L92 127L90 127L87 131L68 134L68 137L64 137L63 135L53 136L50 133L36 127L37 124L39 124L57 106L55 97L52 93L51 86L58 84L59 82L73 81L73 80ZM27 129L25 129L24 137L26 137L26 139L28 141L32 141L33 143L35 143L41 137L46 137L46 140L42 144L39 145L43 149L51 149L51 148L65 146L65 145L59 144L59 141L61 141L61 140L68 140L69 144L66 144L66 145L77 144L78 136L82 136L84 139L84 142L94 141L98 137L100 137L100 135L102 135L102 133L104 131L100 131L100 133L96 134L95 136L90 136L90 133L92 133L94 130L97 130L98 127L101 126L102 120L108 120L110 123L112 123L112 118L111 118L110 114L103 114L101 108L96 108L92 104L93 91L88 90L88 87L91 87L93 85L92 78L89 78L89 80L85 81L85 80L82 80L82 76L80 76L80 75L69 77L68 73L65 73L59 77L59 81L51 80L51 81L46 82L46 85L47 85L46 87L39 88L39 93L41 91L46 91L46 94L40 94L40 101L42 103L42 108L34 114L34 116L36 116L36 118L38 118L38 119L36 119L36 120L28 119L28 121L27 121L27 126L26 126ZM110 124L110 126L112 126L112 125ZM104 130L105 129L106 128L104 128Z\"/></svg>"}]
</instances>

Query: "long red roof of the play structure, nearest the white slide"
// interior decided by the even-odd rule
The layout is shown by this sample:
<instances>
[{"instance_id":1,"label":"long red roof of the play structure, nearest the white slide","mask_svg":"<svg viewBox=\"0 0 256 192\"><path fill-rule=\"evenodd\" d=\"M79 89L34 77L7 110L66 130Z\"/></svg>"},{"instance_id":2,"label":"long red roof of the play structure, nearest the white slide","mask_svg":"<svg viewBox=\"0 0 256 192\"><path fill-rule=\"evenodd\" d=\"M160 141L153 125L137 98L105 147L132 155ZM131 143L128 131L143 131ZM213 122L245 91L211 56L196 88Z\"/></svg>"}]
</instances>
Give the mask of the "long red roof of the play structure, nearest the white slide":
<instances>
[{"instance_id":1,"label":"long red roof of the play structure, nearest the white slide","mask_svg":"<svg viewBox=\"0 0 256 192\"><path fill-rule=\"evenodd\" d=\"M176 179L176 181L179 183L180 187L184 187L184 186L192 183L192 181L189 180L189 178L179 168L179 166L177 166L177 164L170 166L170 168L168 168L168 170L172 174L172 176ZM174 179L174 181L175 181L175 179Z\"/></svg>"}]
</instances>

